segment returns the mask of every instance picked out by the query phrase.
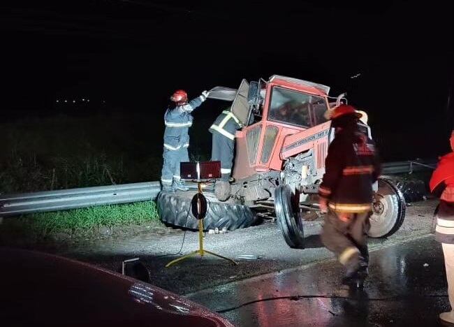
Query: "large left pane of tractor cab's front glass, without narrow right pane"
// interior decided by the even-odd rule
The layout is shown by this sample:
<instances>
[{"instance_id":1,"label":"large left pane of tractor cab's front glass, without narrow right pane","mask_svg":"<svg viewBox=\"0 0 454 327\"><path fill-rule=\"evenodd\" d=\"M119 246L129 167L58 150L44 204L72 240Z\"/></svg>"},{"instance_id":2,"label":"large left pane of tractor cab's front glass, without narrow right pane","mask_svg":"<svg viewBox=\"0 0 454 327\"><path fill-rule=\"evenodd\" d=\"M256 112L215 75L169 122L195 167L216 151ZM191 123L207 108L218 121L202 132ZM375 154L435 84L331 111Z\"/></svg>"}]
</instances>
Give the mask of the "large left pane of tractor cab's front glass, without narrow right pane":
<instances>
[{"instance_id":1,"label":"large left pane of tractor cab's front glass, without narrow right pane","mask_svg":"<svg viewBox=\"0 0 454 327\"><path fill-rule=\"evenodd\" d=\"M273 87L268 119L300 127L311 126L309 94Z\"/></svg>"}]
</instances>

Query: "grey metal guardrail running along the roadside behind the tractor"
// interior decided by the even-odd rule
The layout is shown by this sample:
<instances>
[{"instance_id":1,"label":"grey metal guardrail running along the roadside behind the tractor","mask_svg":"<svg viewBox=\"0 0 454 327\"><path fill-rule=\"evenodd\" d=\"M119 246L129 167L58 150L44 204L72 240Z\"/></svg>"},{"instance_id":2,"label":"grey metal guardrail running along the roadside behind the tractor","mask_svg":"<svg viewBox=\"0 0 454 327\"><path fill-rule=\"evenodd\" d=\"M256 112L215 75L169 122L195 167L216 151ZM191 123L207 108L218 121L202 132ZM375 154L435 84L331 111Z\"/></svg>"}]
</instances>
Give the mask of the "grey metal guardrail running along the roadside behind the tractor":
<instances>
[{"instance_id":1,"label":"grey metal guardrail running along the roadside behind the tractor","mask_svg":"<svg viewBox=\"0 0 454 327\"><path fill-rule=\"evenodd\" d=\"M383 174L412 173L433 169L431 161L396 161L383 163ZM196 184L188 183L189 187ZM87 208L94 205L112 205L139 201L151 201L160 191L159 182L60 189L24 194L0 195L0 217Z\"/></svg>"}]
</instances>

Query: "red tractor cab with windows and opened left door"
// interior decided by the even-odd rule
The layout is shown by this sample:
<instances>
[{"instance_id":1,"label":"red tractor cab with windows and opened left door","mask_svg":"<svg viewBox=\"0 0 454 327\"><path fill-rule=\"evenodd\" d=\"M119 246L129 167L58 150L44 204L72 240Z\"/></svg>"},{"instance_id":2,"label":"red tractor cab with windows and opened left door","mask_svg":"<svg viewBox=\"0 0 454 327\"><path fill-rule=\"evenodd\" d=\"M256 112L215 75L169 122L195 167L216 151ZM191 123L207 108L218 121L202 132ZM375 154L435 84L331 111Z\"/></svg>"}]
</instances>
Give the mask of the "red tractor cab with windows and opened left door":
<instances>
[{"instance_id":1,"label":"red tractor cab with windows and opened left door","mask_svg":"<svg viewBox=\"0 0 454 327\"><path fill-rule=\"evenodd\" d=\"M329 129L330 123L323 117L329 108L329 89L280 75L272 75L268 82L242 80L230 109L243 125L235 138L233 177L280 171L287 136L315 126Z\"/></svg>"}]
</instances>

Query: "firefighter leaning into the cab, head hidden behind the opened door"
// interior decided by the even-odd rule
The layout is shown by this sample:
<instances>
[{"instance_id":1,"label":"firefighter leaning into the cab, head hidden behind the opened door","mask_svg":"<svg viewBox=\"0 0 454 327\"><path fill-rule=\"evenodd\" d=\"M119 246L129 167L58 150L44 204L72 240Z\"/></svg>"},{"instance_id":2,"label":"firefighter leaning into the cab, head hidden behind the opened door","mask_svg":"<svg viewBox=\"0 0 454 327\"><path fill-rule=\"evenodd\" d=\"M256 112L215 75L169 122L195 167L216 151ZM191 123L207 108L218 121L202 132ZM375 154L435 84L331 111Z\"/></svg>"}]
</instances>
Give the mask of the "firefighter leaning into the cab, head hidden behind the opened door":
<instances>
[{"instance_id":1,"label":"firefighter leaning into the cab, head hidden behind the opened door","mask_svg":"<svg viewBox=\"0 0 454 327\"><path fill-rule=\"evenodd\" d=\"M214 185L214 194L220 201L230 196L230 173L233 166L235 132L242 126L241 122L230 110L221 112L210 127L212 133L212 161L221 161L221 180Z\"/></svg>"}]
</instances>

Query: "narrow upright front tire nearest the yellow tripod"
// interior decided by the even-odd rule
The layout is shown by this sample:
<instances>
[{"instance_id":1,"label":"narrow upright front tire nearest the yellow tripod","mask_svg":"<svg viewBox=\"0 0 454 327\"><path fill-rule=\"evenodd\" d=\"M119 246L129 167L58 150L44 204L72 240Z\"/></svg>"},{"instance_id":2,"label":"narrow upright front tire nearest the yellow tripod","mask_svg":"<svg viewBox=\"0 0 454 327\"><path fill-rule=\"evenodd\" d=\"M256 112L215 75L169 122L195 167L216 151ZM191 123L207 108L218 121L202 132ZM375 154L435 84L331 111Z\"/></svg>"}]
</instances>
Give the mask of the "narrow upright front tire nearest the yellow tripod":
<instances>
[{"instance_id":1,"label":"narrow upright front tire nearest the yellow tripod","mask_svg":"<svg viewBox=\"0 0 454 327\"><path fill-rule=\"evenodd\" d=\"M281 185L274 191L277 223L287 245L293 249L305 248L305 234L299 202L299 194L294 194L288 185Z\"/></svg>"}]
</instances>

